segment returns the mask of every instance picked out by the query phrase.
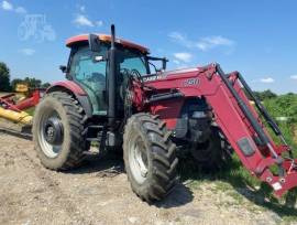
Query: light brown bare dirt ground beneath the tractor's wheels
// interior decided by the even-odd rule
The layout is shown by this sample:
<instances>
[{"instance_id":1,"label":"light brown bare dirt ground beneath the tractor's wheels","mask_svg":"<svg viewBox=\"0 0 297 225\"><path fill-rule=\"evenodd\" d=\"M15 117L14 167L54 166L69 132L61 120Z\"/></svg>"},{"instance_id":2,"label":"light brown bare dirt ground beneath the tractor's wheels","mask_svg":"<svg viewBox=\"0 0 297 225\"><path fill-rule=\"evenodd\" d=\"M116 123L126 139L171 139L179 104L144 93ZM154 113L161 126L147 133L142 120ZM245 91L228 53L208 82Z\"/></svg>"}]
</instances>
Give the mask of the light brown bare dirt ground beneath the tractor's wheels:
<instances>
[{"instance_id":1,"label":"light brown bare dirt ground beneath the tractor's wheels","mask_svg":"<svg viewBox=\"0 0 297 225\"><path fill-rule=\"evenodd\" d=\"M249 205L213 191L211 183L197 189L180 183L163 202L148 205L132 193L120 161L90 156L80 169L53 172L40 164L31 141L0 132L0 224L287 223Z\"/></svg>"}]
</instances>

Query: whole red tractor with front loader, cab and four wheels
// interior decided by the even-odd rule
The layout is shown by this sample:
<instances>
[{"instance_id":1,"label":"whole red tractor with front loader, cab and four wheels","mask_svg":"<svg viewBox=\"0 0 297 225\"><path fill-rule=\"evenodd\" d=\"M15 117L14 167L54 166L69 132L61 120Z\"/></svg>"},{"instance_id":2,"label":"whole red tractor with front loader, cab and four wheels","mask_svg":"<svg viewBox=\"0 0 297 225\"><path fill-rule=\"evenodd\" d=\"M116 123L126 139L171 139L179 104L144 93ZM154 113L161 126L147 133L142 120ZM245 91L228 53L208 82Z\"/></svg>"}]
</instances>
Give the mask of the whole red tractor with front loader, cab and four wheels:
<instances>
[{"instance_id":1,"label":"whole red tractor with front loader, cab and four wheels","mask_svg":"<svg viewBox=\"0 0 297 225\"><path fill-rule=\"evenodd\" d=\"M113 25L111 35L74 36L67 46L68 64L61 68L68 81L50 87L34 115L33 139L44 167L78 165L91 141L100 149L122 147L132 190L153 202L176 183L177 150L210 169L233 149L276 195L297 185L290 148L240 73L224 74L218 64L166 72L166 58L116 39ZM261 118L283 144L272 140Z\"/></svg>"}]
</instances>

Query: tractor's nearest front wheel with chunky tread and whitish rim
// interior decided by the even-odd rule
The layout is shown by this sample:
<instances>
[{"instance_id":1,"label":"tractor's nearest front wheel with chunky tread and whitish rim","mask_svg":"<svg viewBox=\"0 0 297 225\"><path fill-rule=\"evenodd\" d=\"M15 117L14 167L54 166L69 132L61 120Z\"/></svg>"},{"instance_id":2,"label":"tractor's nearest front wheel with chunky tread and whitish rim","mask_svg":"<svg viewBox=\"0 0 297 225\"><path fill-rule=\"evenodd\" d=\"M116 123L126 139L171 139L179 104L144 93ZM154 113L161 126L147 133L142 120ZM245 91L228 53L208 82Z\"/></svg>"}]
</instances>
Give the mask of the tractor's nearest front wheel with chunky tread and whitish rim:
<instances>
[{"instance_id":1,"label":"tractor's nearest front wheel with chunky tread and whitish rim","mask_svg":"<svg viewBox=\"0 0 297 225\"><path fill-rule=\"evenodd\" d=\"M143 201L160 201L176 184L176 147L157 116L141 113L128 120L123 156L131 188Z\"/></svg>"}]
</instances>

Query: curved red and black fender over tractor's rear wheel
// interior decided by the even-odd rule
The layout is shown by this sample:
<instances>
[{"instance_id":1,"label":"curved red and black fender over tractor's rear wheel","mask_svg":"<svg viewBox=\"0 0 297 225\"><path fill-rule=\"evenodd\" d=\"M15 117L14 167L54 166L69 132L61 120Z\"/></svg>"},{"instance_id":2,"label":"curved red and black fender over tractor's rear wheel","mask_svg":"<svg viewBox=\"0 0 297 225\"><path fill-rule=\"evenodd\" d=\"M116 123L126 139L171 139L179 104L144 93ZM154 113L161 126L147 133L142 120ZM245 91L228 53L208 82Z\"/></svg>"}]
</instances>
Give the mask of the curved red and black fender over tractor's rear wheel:
<instances>
[{"instance_id":1,"label":"curved red and black fender over tractor's rear wheel","mask_svg":"<svg viewBox=\"0 0 297 225\"><path fill-rule=\"evenodd\" d=\"M53 92L66 92L74 95L81 105L81 107L84 108L87 117L92 116L92 106L89 100L88 94L75 82L73 81L57 82L53 84L51 87L48 87L45 94Z\"/></svg>"}]
</instances>

